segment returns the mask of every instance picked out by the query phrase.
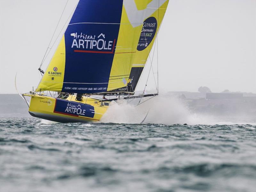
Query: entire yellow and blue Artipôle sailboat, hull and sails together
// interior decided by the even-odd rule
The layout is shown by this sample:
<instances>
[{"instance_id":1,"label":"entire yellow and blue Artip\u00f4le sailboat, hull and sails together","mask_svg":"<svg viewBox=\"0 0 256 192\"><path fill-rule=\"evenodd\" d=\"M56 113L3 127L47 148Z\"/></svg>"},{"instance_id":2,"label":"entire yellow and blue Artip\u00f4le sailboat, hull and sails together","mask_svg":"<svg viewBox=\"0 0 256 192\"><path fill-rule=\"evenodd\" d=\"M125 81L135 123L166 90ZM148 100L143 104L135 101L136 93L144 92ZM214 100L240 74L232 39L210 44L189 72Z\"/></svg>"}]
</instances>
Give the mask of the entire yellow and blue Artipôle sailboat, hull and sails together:
<instances>
[{"instance_id":1,"label":"entire yellow and blue Artip\u00f4le sailboat, hull and sails together","mask_svg":"<svg viewBox=\"0 0 256 192\"><path fill-rule=\"evenodd\" d=\"M22 94L31 97L30 115L97 122L113 100L156 96L134 91L167 5L168 0L80 0L48 67L38 69L36 90Z\"/></svg>"}]
</instances>

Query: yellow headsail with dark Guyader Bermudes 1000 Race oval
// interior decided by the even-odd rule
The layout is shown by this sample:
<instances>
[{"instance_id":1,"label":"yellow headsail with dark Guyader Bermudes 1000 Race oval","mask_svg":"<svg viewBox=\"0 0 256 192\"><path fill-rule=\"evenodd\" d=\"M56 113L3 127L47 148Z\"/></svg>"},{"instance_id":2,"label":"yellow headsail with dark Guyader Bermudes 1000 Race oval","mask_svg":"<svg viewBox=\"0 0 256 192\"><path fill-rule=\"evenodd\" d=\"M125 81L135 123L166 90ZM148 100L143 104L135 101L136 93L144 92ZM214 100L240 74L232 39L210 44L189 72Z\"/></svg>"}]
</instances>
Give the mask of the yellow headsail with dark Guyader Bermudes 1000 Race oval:
<instances>
[{"instance_id":1,"label":"yellow headsail with dark Guyader Bermudes 1000 Race oval","mask_svg":"<svg viewBox=\"0 0 256 192\"><path fill-rule=\"evenodd\" d=\"M140 5L141 11L137 11L137 15L139 16L134 16L133 18L130 18L130 21L134 23L136 22L136 19L139 20L140 18L140 20L143 20L143 25L141 27L139 40L136 44L136 52L134 54L134 59L131 66L132 68L129 75L129 82L125 87L110 91L108 93L109 95L119 92L122 92L123 94L132 94L134 92L140 79L140 75L147 62L149 52L151 51L154 41L156 39L156 35L163 21L164 14L168 5L168 1L165 0L148 1L146 4L144 1L142 1L140 3L144 4ZM138 2L136 2L136 5L138 7ZM135 9L135 1L125 1L124 6L126 10ZM143 13L142 10L144 11ZM130 12L132 13L132 11Z\"/></svg>"}]
</instances>

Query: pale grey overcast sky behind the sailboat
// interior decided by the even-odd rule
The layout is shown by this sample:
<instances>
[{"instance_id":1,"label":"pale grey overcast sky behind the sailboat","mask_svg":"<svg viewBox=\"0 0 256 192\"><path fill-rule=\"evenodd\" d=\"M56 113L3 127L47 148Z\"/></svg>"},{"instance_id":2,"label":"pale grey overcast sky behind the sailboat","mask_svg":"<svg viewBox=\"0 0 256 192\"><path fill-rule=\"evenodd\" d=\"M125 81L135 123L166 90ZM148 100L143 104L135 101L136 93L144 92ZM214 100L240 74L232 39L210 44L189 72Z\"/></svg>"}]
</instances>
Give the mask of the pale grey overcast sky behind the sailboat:
<instances>
[{"instance_id":1,"label":"pale grey overcast sky behind the sailboat","mask_svg":"<svg viewBox=\"0 0 256 192\"><path fill-rule=\"evenodd\" d=\"M37 86L37 68L65 4L0 0L0 93L16 93L16 72L20 92ZM68 2L54 40L75 5ZM256 92L255 0L170 1L158 38L160 92L196 92L199 86Z\"/></svg>"}]
</instances>

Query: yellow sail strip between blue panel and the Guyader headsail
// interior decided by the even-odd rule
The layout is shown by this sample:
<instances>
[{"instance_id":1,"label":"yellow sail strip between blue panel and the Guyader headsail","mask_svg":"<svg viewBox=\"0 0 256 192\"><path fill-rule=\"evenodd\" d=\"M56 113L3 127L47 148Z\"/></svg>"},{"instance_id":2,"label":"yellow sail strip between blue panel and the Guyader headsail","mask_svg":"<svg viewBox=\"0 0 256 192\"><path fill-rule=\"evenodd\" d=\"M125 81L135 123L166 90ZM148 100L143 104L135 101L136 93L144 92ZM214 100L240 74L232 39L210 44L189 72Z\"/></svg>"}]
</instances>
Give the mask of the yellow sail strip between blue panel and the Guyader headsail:
<instances>
[{"instance_id":1,"label":"yellow sail strip between blue panel and the Guyader headsail","mask_svg":"<svg viewBox=\"0 0 256 192\"><path fill-rule=\"evenodd\" d=\"M118 41L115 48L107 91L125 87L130 82L129 76L134 55L137 51L138 40L144 20L143 16L145 15L144 13L146 12L148 3L151 1L152 0L136 0L129 3L124 0ZM126 10L128 12L126 12ZM133 17L131 14L136 14L136 12L139 14L137 20L129 19L129 17Z\"/></svg>"}]
</instances>

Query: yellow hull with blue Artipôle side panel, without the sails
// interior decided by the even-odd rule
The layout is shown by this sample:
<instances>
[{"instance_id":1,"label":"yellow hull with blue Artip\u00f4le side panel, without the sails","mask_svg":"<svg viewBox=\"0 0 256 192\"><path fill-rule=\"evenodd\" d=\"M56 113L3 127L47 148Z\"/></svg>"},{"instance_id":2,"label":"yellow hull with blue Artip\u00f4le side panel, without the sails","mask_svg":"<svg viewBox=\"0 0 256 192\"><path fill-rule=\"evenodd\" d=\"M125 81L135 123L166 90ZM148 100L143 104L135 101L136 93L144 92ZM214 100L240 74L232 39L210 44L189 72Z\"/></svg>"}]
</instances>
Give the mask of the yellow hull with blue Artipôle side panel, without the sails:
<instances>
[{"instance_id":1,"label":"yellow hull with blue Artip\u00f4le side panel, without the sails","mask_svg":"<svg viewBox=\"0 0 256 192\"><path fill-rule=\"evenodd\" d=\"M30 96L29 114L34 117L60 123L98 122L108 109L108 102L91 97L77 101L75 95L67 99L44 95Z\"/></svg>"}]
</instances>

